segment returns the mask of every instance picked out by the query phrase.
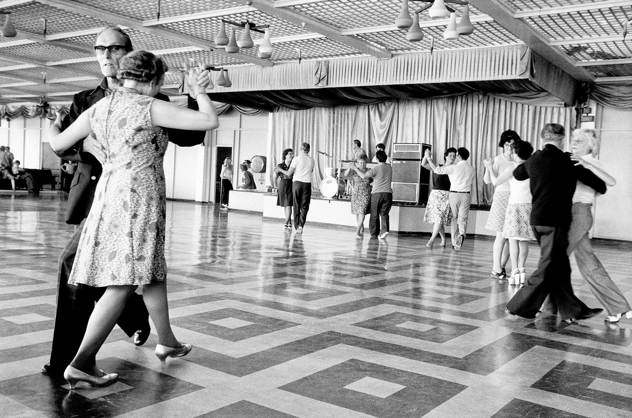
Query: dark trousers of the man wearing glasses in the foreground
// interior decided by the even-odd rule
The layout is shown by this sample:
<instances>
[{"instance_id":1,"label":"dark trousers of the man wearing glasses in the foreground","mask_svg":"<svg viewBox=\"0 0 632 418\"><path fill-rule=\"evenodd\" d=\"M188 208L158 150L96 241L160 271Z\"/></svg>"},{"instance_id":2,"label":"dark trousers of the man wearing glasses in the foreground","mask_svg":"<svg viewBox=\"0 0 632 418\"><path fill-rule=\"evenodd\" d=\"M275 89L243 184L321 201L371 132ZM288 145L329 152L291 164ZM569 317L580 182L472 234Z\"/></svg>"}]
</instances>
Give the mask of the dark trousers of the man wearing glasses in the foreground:
<instances>
[{"instance_id":1,"label":"dark trousers of the man wearing glasses in the foreground","mask_svg":"<svg viewBox=\"0 0 632 418\"><path fill-rule=\"evenodd\" d=\"M98 301L107 289L106 287L68 284L83 222L75 230L75 234L59 257L59 290L51 350L50 370L52 373L63 373L66 366L75 358L88 326L88 319L94 309L94 302ZM149 312L142 296L137 293L132 294L117 323L129 337L137 330L149 326Z\"/></svg>"}]
</instances>

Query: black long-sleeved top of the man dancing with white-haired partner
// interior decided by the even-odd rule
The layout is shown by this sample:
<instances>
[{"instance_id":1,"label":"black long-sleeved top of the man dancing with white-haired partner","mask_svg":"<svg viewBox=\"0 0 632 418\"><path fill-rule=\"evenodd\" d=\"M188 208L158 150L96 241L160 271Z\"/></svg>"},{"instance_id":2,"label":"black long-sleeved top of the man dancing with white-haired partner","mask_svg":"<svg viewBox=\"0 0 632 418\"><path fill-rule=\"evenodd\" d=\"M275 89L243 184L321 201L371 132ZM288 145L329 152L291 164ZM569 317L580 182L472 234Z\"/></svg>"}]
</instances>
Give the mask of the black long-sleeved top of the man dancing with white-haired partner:
<instances>
[{"instance_id":1,"label":"black long-sleeved top of the man dancing with white-haired partner","mask_svg":"<svg viewBox=\"0 0 632 418\"><path fill-rule=\"evenodd\" d=\"M575 165L569 153L547 144L514 170L517 180L530 179L534 226L569 229L577 181L605 193L605 183L592 171Z\"/></svg>"}]
</instances>

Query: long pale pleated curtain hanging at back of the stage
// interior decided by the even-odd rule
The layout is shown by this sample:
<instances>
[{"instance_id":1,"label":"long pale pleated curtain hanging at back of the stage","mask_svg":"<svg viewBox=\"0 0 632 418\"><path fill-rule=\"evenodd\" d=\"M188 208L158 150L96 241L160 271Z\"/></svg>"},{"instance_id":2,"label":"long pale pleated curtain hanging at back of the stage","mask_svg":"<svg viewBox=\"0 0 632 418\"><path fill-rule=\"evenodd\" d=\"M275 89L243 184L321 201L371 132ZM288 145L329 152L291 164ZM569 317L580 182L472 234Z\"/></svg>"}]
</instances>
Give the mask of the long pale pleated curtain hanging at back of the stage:
<instances>
[{"instance_id":1,"label":"long pale pleated curtain hanging at back of the stage","mask_svg":"<svg viewBox=\"0 0 632 418\"><path fill-rule=\"evenodd\" d=\"M310 143L310 155L316 160L312 189L317 193L325 167L339 167L339 160L353 158L353 140L362 142L370 159L380 142L387 150L395 142L428 143L439 162L443 162L447 147L465 146L477 172L473 203L489 205L493 187L483 184L483 158L493 158L501 152L498 141L502 131L517 131L537 149L541 146L538 133L542 126L549 122L570 126L572 114L570 107L526 105L475 93L364 106L277 109L272 113L267 173L270 183L276 184L272 168L281 162L283 150L293 148L298 154L302 142Z\"/></svg>"}]
</instances>

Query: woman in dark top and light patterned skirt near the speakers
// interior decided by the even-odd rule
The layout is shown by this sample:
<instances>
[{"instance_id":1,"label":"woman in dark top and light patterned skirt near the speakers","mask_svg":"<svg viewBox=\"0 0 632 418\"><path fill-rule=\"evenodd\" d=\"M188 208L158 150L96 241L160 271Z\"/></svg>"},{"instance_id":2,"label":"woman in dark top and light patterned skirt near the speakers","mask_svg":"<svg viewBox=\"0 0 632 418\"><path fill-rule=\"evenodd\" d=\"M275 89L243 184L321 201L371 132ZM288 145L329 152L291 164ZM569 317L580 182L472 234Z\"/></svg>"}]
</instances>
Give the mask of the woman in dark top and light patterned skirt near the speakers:
<instances>
[{"instance_id":1,"label":"woman in dark top and light patterned skirt near the speakers","mask_svg":"<svg viewBox=\"0 0 632 418\"><path fill-rule=\"evenodd\" d=\"M454 164L456 158L456 148L447 148L443 155L446 164ZM430 170L428 160L425 155L422 158L422 167ZM442 165L439 165L442 167ZM432 171L432 170L431 170ZM441 234L442 247L446 246L446 228L449 227L452 222L452 210L450 209L450 179L447 174L435 174L432 173L432 191L428 196L428 204L426 205L426 213L423 215L423 222L430 222L434 224L432 227L432 236L428 240L426 246L432 248L432 244L437 237L437 234Z\"/></svg>"}]
</instances>

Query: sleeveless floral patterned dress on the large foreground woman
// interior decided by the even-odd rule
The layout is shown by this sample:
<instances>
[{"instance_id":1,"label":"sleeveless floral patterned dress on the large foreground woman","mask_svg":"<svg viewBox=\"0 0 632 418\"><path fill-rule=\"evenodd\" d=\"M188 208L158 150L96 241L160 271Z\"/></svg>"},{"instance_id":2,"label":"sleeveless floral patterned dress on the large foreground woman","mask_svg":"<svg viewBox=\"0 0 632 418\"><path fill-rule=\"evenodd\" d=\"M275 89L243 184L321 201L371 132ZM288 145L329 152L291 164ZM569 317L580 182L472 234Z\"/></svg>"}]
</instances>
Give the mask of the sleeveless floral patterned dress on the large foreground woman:
<instances>
[{"instance_id":1,"label":"sleeveless floral patterned dress on the large foreground woman","mask_svg":"<svg viewBox=\"0 0 632 418\"><path fill-rule=\"evenodd\" d=\"M90 112L106 152L70 284L142 285L164 280L166 129L152 126L155 99L119 88Z\"/></svg>"}]
</instances>

